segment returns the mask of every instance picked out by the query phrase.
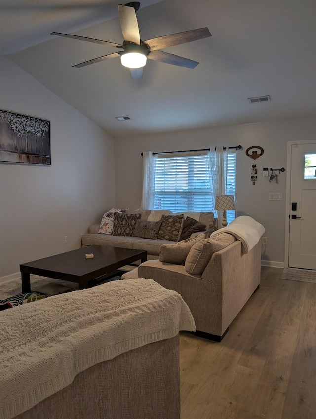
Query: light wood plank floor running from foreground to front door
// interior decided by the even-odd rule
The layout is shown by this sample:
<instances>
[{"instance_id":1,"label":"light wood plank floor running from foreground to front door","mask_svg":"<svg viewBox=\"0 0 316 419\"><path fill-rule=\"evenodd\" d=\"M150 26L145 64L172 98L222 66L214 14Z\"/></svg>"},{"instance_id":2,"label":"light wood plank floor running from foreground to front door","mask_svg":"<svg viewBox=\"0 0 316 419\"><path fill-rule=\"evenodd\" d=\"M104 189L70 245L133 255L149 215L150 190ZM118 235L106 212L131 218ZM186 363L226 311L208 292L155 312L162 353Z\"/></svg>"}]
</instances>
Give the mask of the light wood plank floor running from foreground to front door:
<instances>
[{"instance_id":1,"label":"light wood plank floor running from foreground to front door","mask_svg":"<svg viewBox=\"0 0 316 419\"><path fill-rule=\"evenodd\" d=\"M222 342L180 336L181 419L316 419L316 284L262 268Z\"/></svg>"}]
</instances>

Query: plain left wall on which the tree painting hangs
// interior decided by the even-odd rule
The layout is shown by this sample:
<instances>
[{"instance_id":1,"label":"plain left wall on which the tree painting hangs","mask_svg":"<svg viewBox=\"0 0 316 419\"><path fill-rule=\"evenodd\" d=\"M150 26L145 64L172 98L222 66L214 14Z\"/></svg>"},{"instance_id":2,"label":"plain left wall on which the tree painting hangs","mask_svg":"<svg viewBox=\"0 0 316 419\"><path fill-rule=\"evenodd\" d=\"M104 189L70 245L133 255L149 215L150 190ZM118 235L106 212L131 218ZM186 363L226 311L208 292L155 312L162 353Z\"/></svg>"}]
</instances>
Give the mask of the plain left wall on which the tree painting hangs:
<instances>
[{"instance_id":1,"label":"plain left wall on which the tree painting hangs","mask_svg":"<svg viewBox=\"0 0 316 419\"><path fill-rule=\"evenodd\" d=\"M115 186L113 139L5 57L0 108L51 121L51 166L0 163L3 279L20 263L79 248L80 233L115 204Z\"/></svg>"}]
</instances>

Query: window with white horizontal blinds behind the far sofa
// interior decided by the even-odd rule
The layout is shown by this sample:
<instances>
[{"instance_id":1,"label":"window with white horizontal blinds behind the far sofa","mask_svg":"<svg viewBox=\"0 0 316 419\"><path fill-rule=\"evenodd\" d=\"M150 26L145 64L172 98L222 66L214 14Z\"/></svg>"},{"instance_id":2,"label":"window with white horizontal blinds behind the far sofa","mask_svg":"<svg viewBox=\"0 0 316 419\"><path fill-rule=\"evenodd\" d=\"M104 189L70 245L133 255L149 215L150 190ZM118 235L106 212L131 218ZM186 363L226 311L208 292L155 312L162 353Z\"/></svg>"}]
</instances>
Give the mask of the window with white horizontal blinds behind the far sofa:
<instances>
[{"instance_id":1,"label":"window with white horizontal blinds behind the far sofa","mask_svg":"<svg viewBox=\"0 0 316 419\"><path fill-rule=\"evenodd\" d=\"M227 194L235 198L236 154L228 154ZM212 211L215 202L210 193L207 155L158 156L155 164L154 209L173 212ZM235 211L227 211L227 220Z\"/></svg>"}]
</instances>

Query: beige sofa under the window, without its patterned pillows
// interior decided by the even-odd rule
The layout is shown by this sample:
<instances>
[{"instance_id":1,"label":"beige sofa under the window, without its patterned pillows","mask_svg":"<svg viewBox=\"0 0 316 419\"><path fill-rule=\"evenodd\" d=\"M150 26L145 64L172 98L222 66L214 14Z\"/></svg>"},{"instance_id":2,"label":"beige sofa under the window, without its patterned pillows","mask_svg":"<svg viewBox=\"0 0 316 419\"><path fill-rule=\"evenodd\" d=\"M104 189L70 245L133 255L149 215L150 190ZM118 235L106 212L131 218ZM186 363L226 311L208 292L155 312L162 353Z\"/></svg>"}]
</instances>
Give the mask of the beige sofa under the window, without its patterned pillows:
<instances>
[{"instance_id":1,"label":"beige sofa under the window, without its patterned pillows","mask_svg":"<svg viewBox=\"0 0 316 419\"><path fill-rule=\"evenodd\" d=\"M136 213L137 211L133 211ZM171 214L171 211L140 211L141 220L143 221L157 221L160 219L161 214ZM217 218L214 218L213 212L184 212L184 217L190 216L194 217L197 221L205 224L206 228L210 225L217 225ZM160 247L162 244L174 244L174 241L170 240L161 240L161 239L144 239L141 237L131 237L131 236L114 236L112 234L102 234L98 233L100 223L92 224L89 226L89 232L82 234L81 236L81 245L92 246L113 246L113 247L124 247L127 249L135 250L146 250L147 259L158 259L160 253Z\"/></svg>"}]
</instances>

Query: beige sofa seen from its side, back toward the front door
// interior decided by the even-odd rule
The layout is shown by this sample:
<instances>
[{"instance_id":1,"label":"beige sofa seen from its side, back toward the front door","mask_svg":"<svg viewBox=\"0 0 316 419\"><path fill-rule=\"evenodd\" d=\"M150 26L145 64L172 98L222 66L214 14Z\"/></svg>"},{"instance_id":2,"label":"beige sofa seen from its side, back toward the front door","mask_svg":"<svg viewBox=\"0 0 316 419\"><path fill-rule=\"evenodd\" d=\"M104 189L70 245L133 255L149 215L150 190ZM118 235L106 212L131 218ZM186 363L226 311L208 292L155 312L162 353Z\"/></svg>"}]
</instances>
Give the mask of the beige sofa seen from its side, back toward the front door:
<instances>
[{"instance_id":1,"label":"beige sofa seen from its side, back toward the front door","mask_svg":"<svg viewBox=\"0 0 316 419\"><path fill-rule=\"evenodd\" d=\"M239 217L251 224L250 217ZM235 225L238 224L238 218ZM261 226L261 224L256 223ZM229 227L231 226L231 229ZM213 233L214 240L221 233L231 234L234 221L226 228ZM246 229L241 225L241 231ZM260 285L261 236L263 226L252 240L252 248L245 249L244 240L235 240L222 250L216 251L200 275L187 272L186 266L160 260L148 260L133 271L122 275L122 279L150 278L165 288L182 295L195 319L197 334L221 341L229 325ZM235 236L239 237L236 232ZM254 235L250 230L250 235ZM235 237L234 236L234 237ZM213 237L213 239L212 239ZM241 238L242 239L242 238ZM254 244L257 242L256 244Z\"/></svg>"}]
</instances>

